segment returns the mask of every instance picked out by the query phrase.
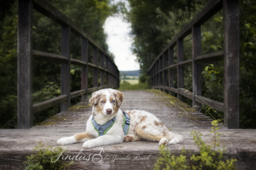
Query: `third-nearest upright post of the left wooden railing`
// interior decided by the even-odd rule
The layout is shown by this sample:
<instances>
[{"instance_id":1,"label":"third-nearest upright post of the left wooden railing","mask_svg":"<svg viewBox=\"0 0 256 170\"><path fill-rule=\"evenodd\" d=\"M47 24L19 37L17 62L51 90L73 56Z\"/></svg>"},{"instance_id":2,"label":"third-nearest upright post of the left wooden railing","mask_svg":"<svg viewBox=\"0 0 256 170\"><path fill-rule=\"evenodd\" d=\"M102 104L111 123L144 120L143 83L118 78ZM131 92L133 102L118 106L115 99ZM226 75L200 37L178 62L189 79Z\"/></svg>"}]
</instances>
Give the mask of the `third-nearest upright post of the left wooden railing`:
<instances>
[{"instance_id":1,"label":"third-nearest upright post of the left wooden railing","mask_svg":"<svg viewBox=\"0 0 256 170\"><path fill-rule=\"evenodd\" d=\"M82 66L81 69L81 89L86 90L86 94L81 96L82 101L87 99L88 89L88 40L82 39L81 44L81 61L84 61L87 65Z\"/></svg>"}]
</instances>

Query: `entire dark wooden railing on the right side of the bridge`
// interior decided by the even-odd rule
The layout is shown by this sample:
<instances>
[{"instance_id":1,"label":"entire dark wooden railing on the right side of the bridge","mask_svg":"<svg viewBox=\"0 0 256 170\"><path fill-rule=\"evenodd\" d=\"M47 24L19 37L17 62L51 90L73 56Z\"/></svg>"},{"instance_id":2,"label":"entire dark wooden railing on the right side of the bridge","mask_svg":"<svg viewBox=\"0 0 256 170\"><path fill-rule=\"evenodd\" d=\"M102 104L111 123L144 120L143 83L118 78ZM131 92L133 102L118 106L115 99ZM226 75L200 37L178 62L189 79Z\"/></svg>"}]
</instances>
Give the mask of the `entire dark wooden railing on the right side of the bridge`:
<instances>
[{"instance_id":1,"label":"entire dark wooden railing on the right side of the bridge","mask_svg":"<svg viewBox=\"0 0 256 170\"><path fill-rule=\"evenodd\" d=\"M224 10L224 50L201 55L201 25L212 15ZM183 60L183 38L192 33L192 59ZM174 63L173 48L177 46L177 63ZM224 59L224 103L201 96L201 63L208 59ZM193 94L184 88L183 67L192 65ZM177 88L174 88L174 69L177 70ZM180 31L161 51L148 69L152 88L165 89L224 112L224 125L239 127L239 0L211 0L201 12ZM169 83L167 83L169 82ZM169 85L168 85L169 84Z\"/></svg>"}]
</instances>

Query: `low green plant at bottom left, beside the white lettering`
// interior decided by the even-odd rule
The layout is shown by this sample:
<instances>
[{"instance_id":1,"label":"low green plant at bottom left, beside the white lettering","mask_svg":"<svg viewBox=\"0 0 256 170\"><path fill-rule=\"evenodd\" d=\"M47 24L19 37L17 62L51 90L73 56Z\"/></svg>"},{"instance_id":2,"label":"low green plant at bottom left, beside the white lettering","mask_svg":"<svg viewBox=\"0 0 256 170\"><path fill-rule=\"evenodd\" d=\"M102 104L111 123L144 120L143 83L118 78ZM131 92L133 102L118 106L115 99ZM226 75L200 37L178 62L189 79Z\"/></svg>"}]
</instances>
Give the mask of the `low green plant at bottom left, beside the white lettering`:
<instances>
[{"instance_id":1,"label":"low green plant at bottom left, beside the white lettering","mask_svg":"<svg viewBox=\"0 0 256 170\"><path fill-rule=\"evenodd\" d=\"M26 170L59 170L73 164L73 161L67 164L58 159L63 151L61 147L44 146L44 144L39 143L33 150L35 153L26 156L27 160L23 162L27 165Z\"/></svg>"}]
</instances>

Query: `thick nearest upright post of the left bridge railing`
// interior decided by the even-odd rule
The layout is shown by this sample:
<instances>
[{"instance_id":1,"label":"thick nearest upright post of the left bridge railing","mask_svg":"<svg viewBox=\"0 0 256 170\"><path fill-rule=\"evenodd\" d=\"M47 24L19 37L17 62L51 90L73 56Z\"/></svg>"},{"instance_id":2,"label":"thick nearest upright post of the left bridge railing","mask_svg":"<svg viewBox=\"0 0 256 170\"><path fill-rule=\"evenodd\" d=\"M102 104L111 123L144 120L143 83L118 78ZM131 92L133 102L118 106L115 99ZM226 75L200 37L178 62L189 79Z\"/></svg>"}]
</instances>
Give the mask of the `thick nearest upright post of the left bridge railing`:
<instances>
[{"instance_id":1,"label":"thick nearest upright post of the left bridge railing","mask_svg":"<svg viewBox=\"0 0 256 170\"><path fill-rule=\"evenodd\" d=\"M30 128L32 115L32 0L18 5L18 128Z\"/></svg>"}]
</instances>

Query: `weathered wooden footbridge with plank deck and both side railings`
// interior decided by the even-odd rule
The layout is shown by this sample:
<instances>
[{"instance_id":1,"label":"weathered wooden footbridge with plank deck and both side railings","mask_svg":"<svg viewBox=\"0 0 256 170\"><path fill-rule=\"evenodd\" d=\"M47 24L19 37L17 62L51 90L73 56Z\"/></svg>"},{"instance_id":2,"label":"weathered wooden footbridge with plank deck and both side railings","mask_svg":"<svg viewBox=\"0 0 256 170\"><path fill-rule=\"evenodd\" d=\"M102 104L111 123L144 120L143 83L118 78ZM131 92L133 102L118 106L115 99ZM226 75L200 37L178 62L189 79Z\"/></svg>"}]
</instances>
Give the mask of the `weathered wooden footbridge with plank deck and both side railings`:
<instances>
[{"instance_id":1,"label":"weathered wooden footbridge with plank deck and both side railings","mask_svg":"<svg viewBox=\"0 0 256 170\"><path fill-rule=\"evenodd\" d=\"M221 8L224 9L224 50L201 55L201 25ZM33 9L48 16L61 25L61 54L49 54L35 50L32 46ZM191 105L183 103L183 97L198 103L210 105L224 112L224 125L220 125L220 145L225 145L227 158L236 158L239 169L255 169L255 130L234 129L239 127L239 1L211 0L207 6L185 26L162 50L148 69L152 88L159 90L125 91L122 110L145 110L158 116L166 127L183 135L183 143L169 145L173 155L179 155L183 148L190 154L199 153L199 148L190 135L192 130L203 133L203 139L211 144L209 133L211 118L201 114ZM70 34L81 38L81 59L70 58ZM183 60L183 38L192 33L192 59ZM24 169L26 156L39 142L56 145L56 140L84 131L85 122L91 114L87 94L101 88L119 88L119 70L113 59L100 48L79 26L44 0L19 1L18 29L18 124L19 129L0 130L0 169ZM177 63L173 60L173 47L177 45ZM88 48L93 48L92 63L88 62ZM44 102L32 103L32 60L43 59L61 63L61 95ZM201 62L208 59L224 59L224 102L217 102L201 96ZM183 90L183 66L193 67L193 93ZM81 89L70 92L70 65L79 65ZM92 68L89 72L88 68ZM174 71L177 70L177 88L174 88ZM88 86L88 75L93 75L93 85ZM164 93L164 92L167 92ZM177 99L171 93L177 94ZM70 99L81 96L82 102L70 107ZM61 113L33 126L33 113L61 104ZM232 129L233 128L233 129ZM66 147L66 146L65 146ZM67 145L67 155L76 156L81 144ZM101 152L102 151L102 152ZM102 156L102 159L75 161L71 169L152 169L159 156L158 144L139 141L113 144L83 150L83 156ZM100 156L100 157L101 157ZM188 156L189 159L189 156ZM98 162L100 161L100 162Z\"/></svg>"}]
</instances>

